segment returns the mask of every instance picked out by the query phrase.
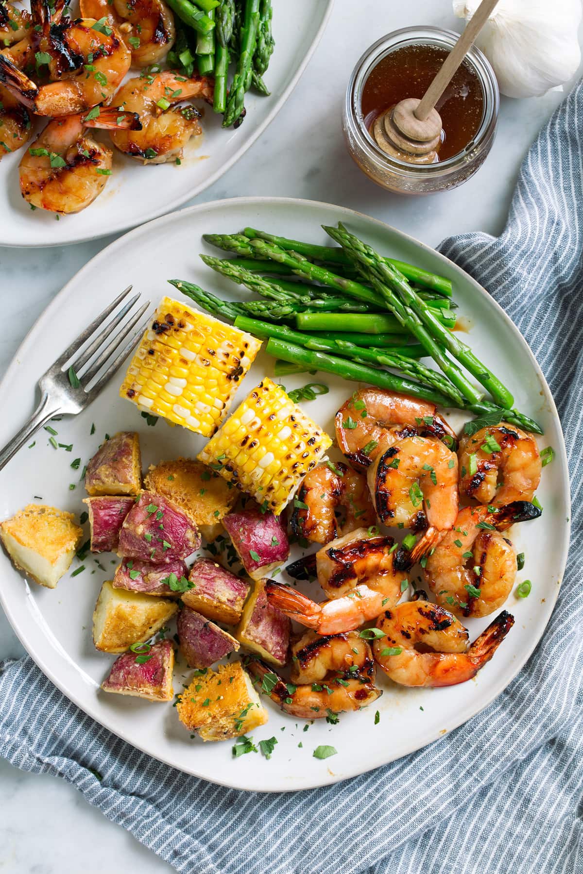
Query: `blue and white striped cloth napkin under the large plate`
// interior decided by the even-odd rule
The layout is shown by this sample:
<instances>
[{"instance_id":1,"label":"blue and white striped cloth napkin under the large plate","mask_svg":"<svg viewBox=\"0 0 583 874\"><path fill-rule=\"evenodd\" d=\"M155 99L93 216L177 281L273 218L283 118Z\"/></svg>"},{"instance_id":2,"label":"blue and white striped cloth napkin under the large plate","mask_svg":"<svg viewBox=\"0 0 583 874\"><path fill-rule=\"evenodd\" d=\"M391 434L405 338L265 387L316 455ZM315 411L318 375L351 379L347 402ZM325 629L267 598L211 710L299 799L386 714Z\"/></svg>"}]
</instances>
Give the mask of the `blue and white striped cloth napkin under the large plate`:
<instances>
[{"instance_id":1,"label":"blue and white striped cloth napkin under the large plate","mask_svg":"<svg viewBox=\"0 0 583 874\"><path fill-rule=\"evenodd\" d=\"M582 131L583 83L524 160L503 235L464 234L441 246L490 289L531 344L559 406L572 472L568 572L543 640L503 694L440 744L375 772L302 793L248 794L139 753L26 658L1 666L3 756L73 783L184 874L583 871L576 809L583 788Z\"/></svg>"}]
</instances>

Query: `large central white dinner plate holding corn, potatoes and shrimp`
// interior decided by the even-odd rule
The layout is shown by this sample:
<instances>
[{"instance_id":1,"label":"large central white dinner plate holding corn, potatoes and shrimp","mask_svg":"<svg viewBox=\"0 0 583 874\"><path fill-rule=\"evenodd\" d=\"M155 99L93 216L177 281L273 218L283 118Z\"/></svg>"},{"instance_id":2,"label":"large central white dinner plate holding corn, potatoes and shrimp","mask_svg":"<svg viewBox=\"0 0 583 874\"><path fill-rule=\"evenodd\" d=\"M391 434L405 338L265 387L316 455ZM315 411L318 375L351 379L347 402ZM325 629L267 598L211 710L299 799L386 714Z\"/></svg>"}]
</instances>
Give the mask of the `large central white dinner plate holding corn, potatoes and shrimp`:
<instances>
[{"instance_id":1,"label":"large central white dinner plate holding corn, potatoes and shrimp","mask_svg":"<svg viewBox=\"0 0 583 874\"><path fill-rule=\"evenodd\" d=\"M253 737L255 743L277 738L271 760L259 753L233 759L231 742L203 745L199 740L191 740L171 704L151 704L100 690L114 657L94 649L91 617L102 580L112 576L115 557L95 557L107 568L103 572L89 555L84 572L73 578L67 573L56 590L48 590L34 583L29 586L10 560L0 555L3 607L24 647L52 682L98 722L134 746L187 773L232 787L275 791L322 786L418 750L482 710L503 691L531 655L551 615L565 566L569 489L559 418L545 378L524 338L487 292L459 267L380 221L339 206L307 200L237 198L158 218L96 255L38 319L0 385L0 409L4 411L0 443L3 443L31 412L33 386L47 364L128 283L133 283L153 305L163 295L178 295L166 282L172 278L191 280L219 295L237 298L239 287L219 277L198 259L198 252L212 251L202 242L203 233L237 232L253 225L295 239L326 243L320 225L333 225L338 220L378 251L452 279L455 300L460 305L458 312L468 327L468 342L509 385L516 406L544 427L540 447L552 446L556 452L552 465L543 471L538 489L538 498L545 508L542 517L517 525L511 534L517 551L524 551L526 556L518 581L531 579L531 595L523 600L510 595L505 607L515 615L516 624L475 680L446 689L414 690L392 685L378 671L378 684L384 694L376 704L341 715L338 725L316 720L305 732L303 721L296 722L282 714L266 699L269 722L253 732ZM180 454L194 456L198 452L204 443L198 435L167 427L163 420L156 427L148 427L135 406L119 398L122 372L85 413L53 423L59 432L57 440L73 443L71 453L53 449L49 435L41 431L36 445L22 449L3 469L0 517L6 518L25 504L39 500L79 513L85 491L79 482L80 471L70 467L71 461L80 457L82 468L105 434L138 431L144 469L162 459ZM260 353L233 406L266 374L273 375L273 359ZM317 379L330 386L330 393L317 401L304 402L303 408L329 434L334 434L334 413L355 385L326 374L318 375ZM305 381L302 375L295 375L286 378L285 385L291 389ZM455 411L450 420L455 427L461 427L464 418L467 417ZM70 484L75 486L73 490ZM292 557L299 554L296 551ZM71 570L78 564L73 561ZM316 600L322 598L316 586L312 596ZM488 621L488 618L468 621L472 639ZM175 681L176 690L181 690L182 670L177 670ZM377 710L380 718L375 725ZM315 759L312 753L320 745L334 746L337 754L327 760Z\"/></svg>"}]
</instances>

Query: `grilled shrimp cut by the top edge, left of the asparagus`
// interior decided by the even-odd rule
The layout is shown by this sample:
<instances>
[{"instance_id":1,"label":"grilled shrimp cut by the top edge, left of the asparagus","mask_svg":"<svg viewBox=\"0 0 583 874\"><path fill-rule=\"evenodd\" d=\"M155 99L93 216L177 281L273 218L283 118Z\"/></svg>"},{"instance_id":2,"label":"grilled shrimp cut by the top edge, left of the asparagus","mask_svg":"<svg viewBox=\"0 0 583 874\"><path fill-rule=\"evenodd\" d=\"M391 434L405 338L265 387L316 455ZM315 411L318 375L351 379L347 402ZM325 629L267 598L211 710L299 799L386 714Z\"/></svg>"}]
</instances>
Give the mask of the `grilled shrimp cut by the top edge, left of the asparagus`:
<instances>
[{"instance_id":1,"label":"grilled shrimp cut by the top edge, left of the asparagus","mask_svg":"<svg viewBox=\"0 0 583 874\"><path fill-rule=\"evenodd\" d=\"M80 0L80 12L115 27L133 66L160 63L174 45L174 16L163 0Z\"/></svg>"}]
</instances>

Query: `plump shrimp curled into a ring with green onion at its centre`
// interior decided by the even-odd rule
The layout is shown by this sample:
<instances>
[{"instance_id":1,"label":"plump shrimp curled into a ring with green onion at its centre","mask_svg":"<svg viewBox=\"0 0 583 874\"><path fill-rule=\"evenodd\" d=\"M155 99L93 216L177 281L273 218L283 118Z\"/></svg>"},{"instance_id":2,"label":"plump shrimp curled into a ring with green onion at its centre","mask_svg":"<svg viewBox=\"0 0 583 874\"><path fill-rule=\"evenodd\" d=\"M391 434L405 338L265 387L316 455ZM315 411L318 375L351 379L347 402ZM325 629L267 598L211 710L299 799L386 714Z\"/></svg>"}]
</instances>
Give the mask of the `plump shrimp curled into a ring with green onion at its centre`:
<instances>
[{"instance_id":1,"label":"plump shrimp curled into a ring with green onion at its centre","mask_svg":"<svg viewBox=\"0 0 583 874\"><path fill-rule=\"evenodd\" d=\"M457 457L441 440L387 428L384 449L368 468L372 503L385 525L427 530L427 543L455 523Z\"/></svg>"}]
</instances>

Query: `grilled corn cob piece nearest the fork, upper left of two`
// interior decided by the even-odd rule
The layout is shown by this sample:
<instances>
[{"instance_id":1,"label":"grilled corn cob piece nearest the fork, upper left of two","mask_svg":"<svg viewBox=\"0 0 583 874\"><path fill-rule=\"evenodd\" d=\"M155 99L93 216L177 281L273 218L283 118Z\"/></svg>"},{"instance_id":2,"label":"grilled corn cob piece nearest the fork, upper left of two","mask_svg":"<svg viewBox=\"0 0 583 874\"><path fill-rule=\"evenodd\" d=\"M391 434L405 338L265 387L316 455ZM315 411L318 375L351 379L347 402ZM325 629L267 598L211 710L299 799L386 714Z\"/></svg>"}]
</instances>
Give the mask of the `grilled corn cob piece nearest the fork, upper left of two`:
<instances>
[{"instance_id":1,"label":"grilled corn cob piece nearest the fork, upper left of two","mask_svg":"<svg viewBox=\"0 0 583 874\"><path fill-rule=\"evenodd\" d=\"M120 395L211 437L260 346L254 336L164 297L135 350Z\"/></svg>"}]
</instances>

